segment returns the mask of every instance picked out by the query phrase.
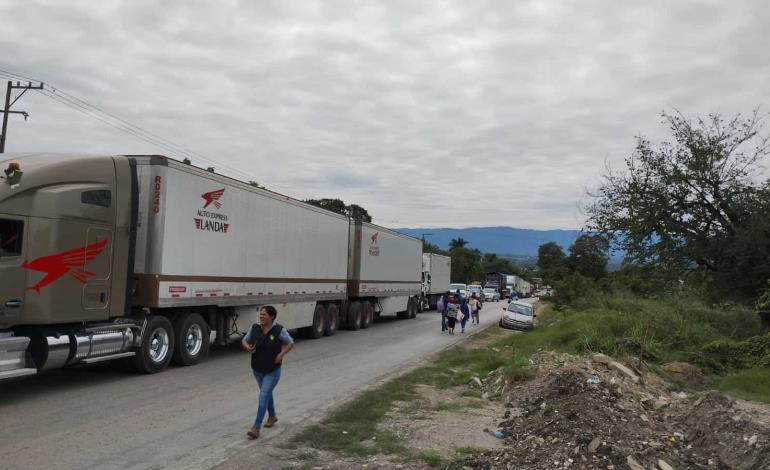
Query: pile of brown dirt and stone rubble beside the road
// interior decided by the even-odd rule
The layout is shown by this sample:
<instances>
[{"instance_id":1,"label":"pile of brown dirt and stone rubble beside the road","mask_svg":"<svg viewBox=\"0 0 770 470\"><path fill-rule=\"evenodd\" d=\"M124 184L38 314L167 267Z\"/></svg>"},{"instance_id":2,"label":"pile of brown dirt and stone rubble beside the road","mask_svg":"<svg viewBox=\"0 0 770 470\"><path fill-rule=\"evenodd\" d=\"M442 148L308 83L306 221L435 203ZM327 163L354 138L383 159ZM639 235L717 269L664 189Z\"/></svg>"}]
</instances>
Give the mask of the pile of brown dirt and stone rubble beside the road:
<instances>
[{"instance_id":1,"label":"pile of brown dirt and stone rubble beside the road","mask_svg":"<svg viewBox=\"0 0 770 470\"><path fill-rule=\"evenodd\" d=\"M643 364L604 355L531 362L530 378L498 370L472 382L504 402L496 435L506 446L450 468L770 468L770 419L719 393L671 391Z\"/></svg>"}]
</instances>

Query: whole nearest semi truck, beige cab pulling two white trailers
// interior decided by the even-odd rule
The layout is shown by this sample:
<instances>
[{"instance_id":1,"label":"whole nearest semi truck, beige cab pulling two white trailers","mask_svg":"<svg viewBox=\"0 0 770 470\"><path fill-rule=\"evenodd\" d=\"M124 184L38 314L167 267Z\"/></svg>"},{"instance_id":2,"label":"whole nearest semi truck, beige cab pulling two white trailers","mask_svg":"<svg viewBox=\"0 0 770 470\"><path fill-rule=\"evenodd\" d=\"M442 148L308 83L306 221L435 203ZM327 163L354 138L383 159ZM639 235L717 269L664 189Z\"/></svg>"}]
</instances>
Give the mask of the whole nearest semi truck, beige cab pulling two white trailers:
<instances>
[{"instance_id":1,"label":"whole nearest semi truck, beige cab pulling two white trailers","mask_svg":"<svg viewBox=\"0 0 770 470\"><path fill-rule=\"evenodd\" d=\"M0 379L414 318L422 242L163 156L0 156Z\"/></svg>"}]
</instances>

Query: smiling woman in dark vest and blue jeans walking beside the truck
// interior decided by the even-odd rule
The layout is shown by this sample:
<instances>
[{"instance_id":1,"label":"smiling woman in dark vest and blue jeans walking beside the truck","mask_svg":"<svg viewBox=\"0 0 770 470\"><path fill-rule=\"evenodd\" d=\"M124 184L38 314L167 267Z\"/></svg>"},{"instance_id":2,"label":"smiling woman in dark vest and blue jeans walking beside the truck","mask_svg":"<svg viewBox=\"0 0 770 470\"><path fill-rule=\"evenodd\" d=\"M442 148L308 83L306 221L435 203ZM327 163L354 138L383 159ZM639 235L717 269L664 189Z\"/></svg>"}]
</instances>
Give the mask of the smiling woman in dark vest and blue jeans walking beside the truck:
<instances>
[{"instance_id":1,"label":"smiling woman in dark vest and blue jeans walking beside the truck","mask_svg":"<svg viewBox=\"0 0 770 470\"><path fill-rule=\"evenodd\" d=\"M257 418L246 435L249 439L259 437L259 429L267 413L266 428L275 426L278 416L275 413L273 390L281 378L281 363L286 354L294 347L294 339L286 328L275 322L278 312L272 305L259 310L259 323L243 337L241 345L251 353L251 369L259 385L259 406Z\"/></svg>"}]
</instances>

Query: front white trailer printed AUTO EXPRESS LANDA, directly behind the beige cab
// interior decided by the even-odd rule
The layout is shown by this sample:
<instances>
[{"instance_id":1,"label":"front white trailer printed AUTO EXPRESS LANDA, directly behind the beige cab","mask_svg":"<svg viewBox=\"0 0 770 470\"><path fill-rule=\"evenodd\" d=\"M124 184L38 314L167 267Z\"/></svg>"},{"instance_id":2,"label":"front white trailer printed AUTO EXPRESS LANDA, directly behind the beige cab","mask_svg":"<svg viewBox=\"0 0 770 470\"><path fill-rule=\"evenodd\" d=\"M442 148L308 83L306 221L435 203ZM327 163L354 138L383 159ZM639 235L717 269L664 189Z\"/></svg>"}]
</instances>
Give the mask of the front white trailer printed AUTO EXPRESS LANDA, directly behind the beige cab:
<instances>
[{"instance_id":1,"label":"front white trailer printed AUTO EXPRESS LANDA, directly behind the beige cab","mask_svg":"<svg viewBox=\"0 0 770 470\"><path fill-rule=\"evenodd\" d=\"M231 308L220 344L275 305L280 323L333 334L346 299L348 218L173 160L137 159L135 304ZM230 324L237 319L236 324Z\"/></svg>"}]
</instances>

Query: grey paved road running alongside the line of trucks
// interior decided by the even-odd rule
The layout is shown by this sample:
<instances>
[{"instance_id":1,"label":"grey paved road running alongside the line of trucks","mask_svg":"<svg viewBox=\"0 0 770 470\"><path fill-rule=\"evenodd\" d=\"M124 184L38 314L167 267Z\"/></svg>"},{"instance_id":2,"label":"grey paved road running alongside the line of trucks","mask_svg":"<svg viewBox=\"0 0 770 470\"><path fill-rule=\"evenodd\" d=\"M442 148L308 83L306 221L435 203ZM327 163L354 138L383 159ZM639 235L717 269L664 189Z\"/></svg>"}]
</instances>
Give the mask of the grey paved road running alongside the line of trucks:
<instances>
[{"instance_id":1,"label":"grey paved road running alongside the line of trucks","mask_svg":"<svg viewBox=\"0 0 770 470\"><path fill-rule=\"evenodd\" d=\"M496 322L503 305L486 303L481 326ZM416 320L383 318L367 330L299 340L276 389L281 421L264 438L466 335L459 327L454 336L441 334L438 314L429 312ZM249 356L238 347L156 375L101 367L3 383L0 468L210 468L264 440L244 439L256 393Z\"/></svg>"}]
</instances>

